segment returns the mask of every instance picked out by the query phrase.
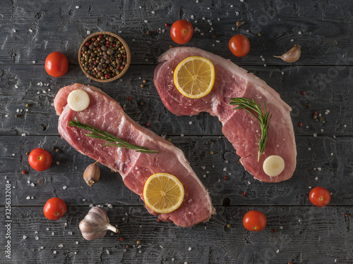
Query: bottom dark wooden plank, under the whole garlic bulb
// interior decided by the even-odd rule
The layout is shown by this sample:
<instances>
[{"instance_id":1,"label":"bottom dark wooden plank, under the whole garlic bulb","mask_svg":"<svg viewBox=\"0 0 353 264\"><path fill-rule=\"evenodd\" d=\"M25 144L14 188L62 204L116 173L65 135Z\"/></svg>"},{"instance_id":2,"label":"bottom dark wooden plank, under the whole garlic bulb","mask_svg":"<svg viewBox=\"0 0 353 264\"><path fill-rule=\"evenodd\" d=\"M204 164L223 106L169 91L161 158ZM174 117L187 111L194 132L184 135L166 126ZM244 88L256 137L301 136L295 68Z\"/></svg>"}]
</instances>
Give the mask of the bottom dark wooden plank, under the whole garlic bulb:
<instances>
[{"instance_id":1,"label":"bottom dark wooden plank, under the whole garlic bulb","mask_svg":"<svg viewBox=\"0 0 353 264\"><path fill-rule=\"evenodd\" d=\"M242 225L244 214L253 209L261 210L267 216L268 224L262 232L246 231ZM345 216L352 213L352 206L217 208L217 215L210 222L191 228L158 223L140 206L120 206L105 208L120 234L110 235L109 231L103 239L85 241L78 223L88 210L88 206L69 206L63 218L50 221L44 218L40 207L12 207L11 262L4 260L5 263L353 261L352 219ZM0 208L0 213L4 215L4 208ZM0 232L6 233L5 225L0 225ZM136 244L138 240L140 245ZM1 236L0 244L5 243Z\"/></svg>"}]
</instances>

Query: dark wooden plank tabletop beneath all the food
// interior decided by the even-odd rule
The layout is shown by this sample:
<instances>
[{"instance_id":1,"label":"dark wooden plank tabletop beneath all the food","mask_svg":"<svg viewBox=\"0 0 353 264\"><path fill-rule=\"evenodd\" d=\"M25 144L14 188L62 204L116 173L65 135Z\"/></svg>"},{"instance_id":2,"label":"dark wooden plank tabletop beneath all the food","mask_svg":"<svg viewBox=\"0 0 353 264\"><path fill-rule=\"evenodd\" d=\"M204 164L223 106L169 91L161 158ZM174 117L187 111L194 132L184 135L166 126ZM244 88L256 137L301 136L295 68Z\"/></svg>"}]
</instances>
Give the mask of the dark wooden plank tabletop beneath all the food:
<instances>
[{"instance_id":1,"label":"dark wooden plank tabletop beneath all the food","mask_svg":"<svg viewBox=\"0 0 353 264\"><path fill-rule=\"evenodd\" d=\"M2 0L0 6L0 263L353 263L352 1ZM195 28L186 46L229 58L292 106L298 151L292 179L254 180L216 118L177 117L164 108L153 71L158 56L178 46L164 24L181 18ZM120 80L94 82L78 66L80 43L97 31L115 32L130 46L131 67ZM238 33L251 42L244 58L227 45ZM294 44L302 47L297 63L273 58ZM44 70L52 51L68 57L64 77ZM217 214L191 228L157 222L120 175L102 166L100 182L88 187L82 175L92 160L61 139L53 107L56 92L74 82L99 87L133 120L171 139L210 191ZM37 147L53 156L44 172L28 165L26 152ZM325 208L309 201L316 186L332 193ZM42 213L53 196L68 205L56 221ZM92 205L103 206L121 233L85 241L78 223ZM267 217L262 232L242 225L252 209Z\"/></svg>"}]
</instances>

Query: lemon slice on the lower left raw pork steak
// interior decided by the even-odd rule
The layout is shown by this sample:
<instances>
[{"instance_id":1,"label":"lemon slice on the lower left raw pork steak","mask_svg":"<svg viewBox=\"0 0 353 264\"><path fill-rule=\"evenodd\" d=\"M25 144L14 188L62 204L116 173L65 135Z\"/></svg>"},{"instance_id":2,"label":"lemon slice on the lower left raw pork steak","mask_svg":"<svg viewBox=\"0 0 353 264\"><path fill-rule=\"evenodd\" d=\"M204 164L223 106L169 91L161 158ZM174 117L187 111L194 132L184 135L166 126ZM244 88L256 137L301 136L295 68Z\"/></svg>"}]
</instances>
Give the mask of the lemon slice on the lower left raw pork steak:
<instances>
[{"instance_id":1,"label":"lemon slice on the lower left raw pork steak","mask_svg":"<svg viewBox=\"0 0 353 264\"><path fill-rule=\"evenodd\" d=\"M143 199L157 213L171 213L184 199L184 187L177 177L169 173L151 175L143 188Z\"/></svg>"}]
</instances>

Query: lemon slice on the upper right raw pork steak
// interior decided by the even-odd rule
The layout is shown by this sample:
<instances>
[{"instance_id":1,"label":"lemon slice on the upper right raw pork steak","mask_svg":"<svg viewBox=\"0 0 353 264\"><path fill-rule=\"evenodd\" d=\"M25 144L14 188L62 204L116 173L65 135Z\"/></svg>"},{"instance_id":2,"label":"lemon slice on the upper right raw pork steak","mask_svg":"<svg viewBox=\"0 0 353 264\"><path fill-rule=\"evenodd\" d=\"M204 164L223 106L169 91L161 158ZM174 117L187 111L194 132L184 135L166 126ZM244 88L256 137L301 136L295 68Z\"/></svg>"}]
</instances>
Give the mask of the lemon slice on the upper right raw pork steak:
<instances>
[{"instance_id":1,"label":"lemon slice on the upper right raw pork steak","mask_svg":"<svg viewBox=\"0 0 353 264\"><path fill-rule=\"evenodd\" d=\"M174 84L184 96L201 98L210 93L215 84L215 68L207 58L185 58L174 70Z\"/></svg>"}]
</instances>

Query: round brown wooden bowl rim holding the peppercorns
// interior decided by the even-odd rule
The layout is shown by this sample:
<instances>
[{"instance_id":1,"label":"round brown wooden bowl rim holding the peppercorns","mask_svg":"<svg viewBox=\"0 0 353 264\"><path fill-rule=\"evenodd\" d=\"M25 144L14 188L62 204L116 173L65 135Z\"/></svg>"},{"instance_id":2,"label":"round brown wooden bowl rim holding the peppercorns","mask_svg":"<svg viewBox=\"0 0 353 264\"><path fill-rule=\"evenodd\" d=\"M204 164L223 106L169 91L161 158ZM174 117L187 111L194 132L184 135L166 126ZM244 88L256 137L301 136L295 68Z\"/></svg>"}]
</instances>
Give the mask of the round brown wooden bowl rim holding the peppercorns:
<instances>
[{"instance_id":1,"label":"round brown wooden bowl rim holding the peppercorns","mask_svg":"<svg viewBox=\"0 0 353 264\"><path fill-rule=\"evenodd\" d=\"M99 78L96 78L93 75L88 74L86 72L85 68L83 67L83 65L81 64L81 57L82 57L81 51L82 51L83 46L85 46L85 43L88 42L90 39L92 39L92 37L96 37L96 36L98 36L100 34L107 34L109 36L115 37L116 39L119 39L119 41L125 47L125 50L126 50L126 65L125 65L124 69L121 70L121 72L118 75L115 75L114 77L111 77L111 78L108 78L108 79L103 79L103 80L99 79ZM101 31L101 32L95 32L93 34L90 34L82 42L82 44L80 45L80 49L78 50L78 64L80 65L81 70L83 71L83 73L85 73L85 75L87 77L90 77L90 79L95 80L96 82L112 82L114 80L119 79L121 76L124 75L124 73L126 73L126 70L128 70L128 66L130 66L130 63L131 63L131 52L130 52L130 49L128 48L128 44L126 44L125 40L122 37L120 37L117 34L114 34L112 32Z\"/></svg>"}]
</instances>

